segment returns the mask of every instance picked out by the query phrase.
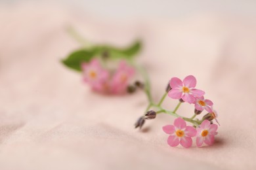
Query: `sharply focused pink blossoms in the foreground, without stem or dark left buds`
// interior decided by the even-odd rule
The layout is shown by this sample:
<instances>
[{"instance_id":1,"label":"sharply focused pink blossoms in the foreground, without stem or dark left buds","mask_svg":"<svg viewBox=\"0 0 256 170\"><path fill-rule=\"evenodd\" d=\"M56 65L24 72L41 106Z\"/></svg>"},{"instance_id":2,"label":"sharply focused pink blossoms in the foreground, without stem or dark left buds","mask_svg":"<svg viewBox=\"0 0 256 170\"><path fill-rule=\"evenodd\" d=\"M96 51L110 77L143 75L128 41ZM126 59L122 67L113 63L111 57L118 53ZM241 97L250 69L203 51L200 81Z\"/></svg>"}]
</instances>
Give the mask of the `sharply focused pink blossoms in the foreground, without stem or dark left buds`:
<instances>
[{"instance_id":1,"label":"sharply focused pink blossoms in the foreground, without stem or dark left buds","mask_svg":"<svg viewBox=\"0 0 256 170\"><path fill-rule=\"evenodd\" d=\"M177 146L181 143L182 146L188 148L192 146L192 137L196 136L197 146L202 146L203 143L213 144L218 126L210 121L213 118L217 121L217 112L213 110L213 102L209 99L204 99L205 92L195 88L196 78L189 75L182 81L177 77L173 77L169 82L169 86L168 96L172 99L179 99L182 102L193 104L195 116L201 114L203 110L208 113L203 116L201 121L197 121L200 124L198 124L197 128L186 126L186 122L181 117L175 120L174 126L163 126L163 131L170 135L167 143L170 146Z\"/></svg>"}]
</instances>

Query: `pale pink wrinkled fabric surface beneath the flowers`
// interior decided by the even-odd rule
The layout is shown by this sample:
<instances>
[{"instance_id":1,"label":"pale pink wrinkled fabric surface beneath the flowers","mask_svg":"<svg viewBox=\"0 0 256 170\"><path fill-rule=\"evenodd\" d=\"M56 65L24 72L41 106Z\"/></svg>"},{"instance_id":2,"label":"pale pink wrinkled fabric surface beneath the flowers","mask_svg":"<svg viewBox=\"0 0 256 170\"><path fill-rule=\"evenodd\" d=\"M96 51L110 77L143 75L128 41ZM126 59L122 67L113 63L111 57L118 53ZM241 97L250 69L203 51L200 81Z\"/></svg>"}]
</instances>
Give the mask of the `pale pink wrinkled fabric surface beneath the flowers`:
<instances>
[{"instance_id":1,"label":"pale pink wrinkled fabric surface beneath the flowers","mask_svg":"<svg viewBox=\"0 0 256 170\"><path fill-rule=\"evenodd\" d=\"M144 41L138 58L158 101L172 76L194 75L219 111L209 147L171 148L159 115L134 129L144 93L98 95L60 59L79 48L73 25L93 42ZM256 24L243 18L119 21L54 7L0 9L0 169L255 169ZM177 101L163 106L173 109ZM192 105L179 113L190 116Z\"/></svg>"}]
</instances>

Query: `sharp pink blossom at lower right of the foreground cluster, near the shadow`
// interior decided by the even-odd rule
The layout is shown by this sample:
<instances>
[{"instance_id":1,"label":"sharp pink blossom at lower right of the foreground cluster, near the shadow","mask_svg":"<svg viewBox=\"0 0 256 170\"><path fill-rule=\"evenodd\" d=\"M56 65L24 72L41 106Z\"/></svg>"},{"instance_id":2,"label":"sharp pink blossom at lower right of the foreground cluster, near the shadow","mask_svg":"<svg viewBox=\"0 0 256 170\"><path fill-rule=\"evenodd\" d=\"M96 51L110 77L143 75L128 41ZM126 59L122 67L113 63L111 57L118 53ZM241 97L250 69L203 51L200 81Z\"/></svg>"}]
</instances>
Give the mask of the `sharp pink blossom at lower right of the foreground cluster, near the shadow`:
<instances>
[{"instance_id":1,"label":"sharp pink blossom at lower right of the foreground cluster, near the shadow","mask_svg":"<svg viewBox=\"0 0 256 170\"><path fill-rule=\"evenodd\" d=\"M200 147L203 143L207 145L213 144L217 129L218 126L216 124L211 124L209 120L203 120L197 129L196 146Z\"/></svg>"}]
</instances>

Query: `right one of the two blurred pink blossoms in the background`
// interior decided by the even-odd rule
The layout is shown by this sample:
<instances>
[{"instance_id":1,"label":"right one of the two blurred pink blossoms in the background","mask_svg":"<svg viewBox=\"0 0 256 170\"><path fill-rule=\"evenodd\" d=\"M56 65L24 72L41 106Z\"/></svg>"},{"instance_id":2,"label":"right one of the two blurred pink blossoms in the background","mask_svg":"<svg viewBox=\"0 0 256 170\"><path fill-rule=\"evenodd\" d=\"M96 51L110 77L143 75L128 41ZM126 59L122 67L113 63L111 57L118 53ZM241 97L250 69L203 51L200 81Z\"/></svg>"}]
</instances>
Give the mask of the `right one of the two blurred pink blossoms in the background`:
<instances>
[{"instance_id":1,"label":"right one of the two blurred pink blossoms in the background","mask_svg":"<svg viewBox=\"0 0 256 170\"><path fill-rule=\"evenodd\" d=\"M119 63L119 67L112 78L112 92L124 93L127 89L129 80L134 75L135 69L127 65L125 61Z\"/></svg>"}]
</instances>

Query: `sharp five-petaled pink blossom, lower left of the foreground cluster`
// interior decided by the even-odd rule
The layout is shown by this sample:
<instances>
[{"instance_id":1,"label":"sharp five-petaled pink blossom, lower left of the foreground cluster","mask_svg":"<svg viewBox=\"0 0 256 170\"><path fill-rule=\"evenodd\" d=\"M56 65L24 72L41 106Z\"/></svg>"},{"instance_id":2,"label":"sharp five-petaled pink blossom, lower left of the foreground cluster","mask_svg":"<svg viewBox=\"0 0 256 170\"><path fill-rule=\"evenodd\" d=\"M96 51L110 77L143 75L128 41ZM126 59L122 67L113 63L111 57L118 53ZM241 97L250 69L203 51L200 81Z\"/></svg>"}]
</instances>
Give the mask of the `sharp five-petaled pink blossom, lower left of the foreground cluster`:
<instances>
[{"instance_id":1,"label":"sharp five-petaled pink blossom, lower left of the foreground cluster","mask_svg":"<svg viewBox=\"0 0 256 170\"><path fill-rule=\"evenodd\" d=\"M163 126L163 131L169 134L167 143L170 146L181 145L184 148L192 146L192 137L196 136L196 129L192 126L186 126L186 122L182 118L177 118L173 125Z\"/></svg>"}]
</instances>

